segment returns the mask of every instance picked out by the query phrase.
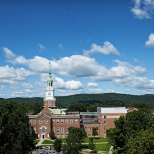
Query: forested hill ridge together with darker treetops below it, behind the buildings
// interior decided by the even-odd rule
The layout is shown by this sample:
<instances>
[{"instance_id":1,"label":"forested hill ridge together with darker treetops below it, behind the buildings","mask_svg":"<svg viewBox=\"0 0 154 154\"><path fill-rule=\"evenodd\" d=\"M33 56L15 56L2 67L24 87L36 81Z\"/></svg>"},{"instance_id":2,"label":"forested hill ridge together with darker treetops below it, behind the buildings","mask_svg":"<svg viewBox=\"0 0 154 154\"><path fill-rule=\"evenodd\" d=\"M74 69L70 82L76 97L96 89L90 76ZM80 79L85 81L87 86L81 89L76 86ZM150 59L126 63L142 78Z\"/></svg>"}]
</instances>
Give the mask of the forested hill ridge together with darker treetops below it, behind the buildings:
<instances>
[{"instance_id":1,"label":"forested hill ridge together with darker treetops below it, behind the buildings","mask_svg":"<svg viewBox=\"0 0 154 154\"><path fill-rule=\"evenodd\" d=\"M33 114L39 113L43 109L43 98L9 98L2 99L0 102L17 102L22 103L26 112L31 111ZM96 112L97 107L136 107L136 108L153 108L154 95L126 95L126 94L80 94L70 96L56 97L58 108L67 108L68 111Z\"/></svg>"}]
</instances>

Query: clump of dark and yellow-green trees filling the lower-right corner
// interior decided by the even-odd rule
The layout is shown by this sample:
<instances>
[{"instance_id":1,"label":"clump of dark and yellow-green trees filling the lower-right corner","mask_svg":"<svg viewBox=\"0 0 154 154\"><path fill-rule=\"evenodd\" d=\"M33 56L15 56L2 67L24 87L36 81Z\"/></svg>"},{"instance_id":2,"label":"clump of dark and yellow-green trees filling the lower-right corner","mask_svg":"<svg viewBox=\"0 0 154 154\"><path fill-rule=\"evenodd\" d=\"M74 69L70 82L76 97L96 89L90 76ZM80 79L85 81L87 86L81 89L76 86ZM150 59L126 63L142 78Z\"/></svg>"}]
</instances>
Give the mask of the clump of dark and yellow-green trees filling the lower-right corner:
<instances>
[{"instance_id":1,"label":"clump of dark and yellow-green trees filling the lower-right corner","mask_svg":"<svg viewBox=\"0 0 154 154\"><path fill-rule=\"evenodd\" d=\"M154 116L148 108L130 112L107 130L114 154L153 154Z\"/></svg>"}]
</instances>

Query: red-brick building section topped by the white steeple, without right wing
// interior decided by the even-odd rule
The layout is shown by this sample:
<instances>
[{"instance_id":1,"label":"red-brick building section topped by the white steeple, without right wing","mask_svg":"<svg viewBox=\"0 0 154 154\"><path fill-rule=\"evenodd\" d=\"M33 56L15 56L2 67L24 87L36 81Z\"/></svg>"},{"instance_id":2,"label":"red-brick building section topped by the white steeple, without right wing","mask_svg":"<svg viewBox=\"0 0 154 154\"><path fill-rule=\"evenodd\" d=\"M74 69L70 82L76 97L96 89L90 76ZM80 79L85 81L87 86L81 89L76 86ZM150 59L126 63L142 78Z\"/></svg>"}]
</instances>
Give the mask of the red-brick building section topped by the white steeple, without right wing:
<instances>
[{"instance_id":1,"label":"red-brick building section topped by the white steeple, without right wing","mask_svg":"<svg viewBox=\"0 0 154 154\"><path fill-rule=\"evenodd\" d=\"M56 107L51 71L48 75L44 108L37 115L28 115L30 125L33 126L38 138L49 138L51 130L57 137L66 137L69 127L80 127L79 112L67 112L66 109Z\"/></svg>"}]
</instances>

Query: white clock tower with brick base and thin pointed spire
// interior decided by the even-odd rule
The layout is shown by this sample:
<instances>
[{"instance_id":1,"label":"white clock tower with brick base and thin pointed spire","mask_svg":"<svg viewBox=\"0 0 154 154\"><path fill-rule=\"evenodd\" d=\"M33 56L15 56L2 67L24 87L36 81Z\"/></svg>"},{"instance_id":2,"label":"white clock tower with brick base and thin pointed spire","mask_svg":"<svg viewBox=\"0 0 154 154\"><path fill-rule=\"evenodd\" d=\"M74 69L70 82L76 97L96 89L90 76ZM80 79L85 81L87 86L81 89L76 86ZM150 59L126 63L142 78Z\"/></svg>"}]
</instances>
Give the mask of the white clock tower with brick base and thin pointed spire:
<instances>
[{"instance_id":1,"label":"white clock tower with brick base and thin pointed spire","mask_svg":"<svg viewBox=\"0 0 154 154\"><path fill-rule=\"evenodd\" d=\"M48 80L46 85L46 95L44 98L44 106L55 108L56 107L55 100L56 99L54 98L53 80L51 75L51 63L49 62L49 74L48 74Z\"/></svg>"}]
</instances>

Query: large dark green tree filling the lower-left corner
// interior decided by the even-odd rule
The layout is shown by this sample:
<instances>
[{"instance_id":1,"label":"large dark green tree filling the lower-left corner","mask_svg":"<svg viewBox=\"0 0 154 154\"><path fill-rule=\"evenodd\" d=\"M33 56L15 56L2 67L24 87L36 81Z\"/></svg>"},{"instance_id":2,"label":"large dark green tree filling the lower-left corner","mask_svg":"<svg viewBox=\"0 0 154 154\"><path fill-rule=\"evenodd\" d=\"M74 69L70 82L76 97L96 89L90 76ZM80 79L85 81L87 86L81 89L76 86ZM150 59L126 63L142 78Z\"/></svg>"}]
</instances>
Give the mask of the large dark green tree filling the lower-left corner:
<instances>
[{"instance_id":1,"label":"large dark green tree filling the lower-left corner","mask_svg":"<svg viewBox=\"0 0 154 154\"><path fill-rule=\"evenodd\" d=\"M22 105L0 104L0 139L0 153L28 154L35 149L34 133Z\"/></svg>"}]
</instances>

